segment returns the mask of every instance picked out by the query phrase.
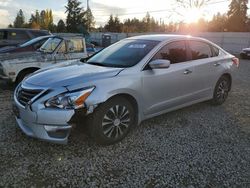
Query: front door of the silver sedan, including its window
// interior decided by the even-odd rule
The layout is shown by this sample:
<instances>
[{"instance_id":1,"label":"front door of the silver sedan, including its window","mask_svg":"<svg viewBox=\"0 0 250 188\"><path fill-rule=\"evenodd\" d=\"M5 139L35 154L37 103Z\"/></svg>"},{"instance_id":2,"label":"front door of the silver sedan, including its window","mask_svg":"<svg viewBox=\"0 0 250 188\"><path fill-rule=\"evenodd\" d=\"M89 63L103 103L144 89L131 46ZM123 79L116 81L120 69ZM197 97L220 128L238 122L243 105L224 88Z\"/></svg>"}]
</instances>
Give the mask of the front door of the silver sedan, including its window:
<instances>
[{"instance_id":1,"label":"front door of the silver sedan, including its window","mask_svg":"<svg viewBox=\"0 0 250 188\"><path fill-rule=\"evenodd\" d=\"M188 61L186 41L175 41L160 49L152 58L170 60L167 69L143 71L144 113L157 114L196 100L199 80Z\"/></svg>"}]
</instances>

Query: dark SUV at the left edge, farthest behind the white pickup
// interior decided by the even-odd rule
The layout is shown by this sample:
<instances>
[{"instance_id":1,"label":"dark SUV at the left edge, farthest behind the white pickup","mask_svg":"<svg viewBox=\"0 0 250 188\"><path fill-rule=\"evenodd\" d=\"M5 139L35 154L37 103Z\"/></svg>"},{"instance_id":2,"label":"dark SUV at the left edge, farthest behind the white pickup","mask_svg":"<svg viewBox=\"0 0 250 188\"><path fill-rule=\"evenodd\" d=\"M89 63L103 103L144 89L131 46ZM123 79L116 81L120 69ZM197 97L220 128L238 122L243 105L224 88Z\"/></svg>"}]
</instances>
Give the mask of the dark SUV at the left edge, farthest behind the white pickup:
<instances>
[{"instance_id":1,"label":"dark SUV at the left edge, farthest behind the white pickup","mask_svg":"<svg viewBox=\"0 0 250 188\"><path fill-rule=\"evenodd\" d=\"M5 46L17 46L30 39L50 35L47 30L7 28L0 29L0 48Z\"/></svg>"}]
</instances>

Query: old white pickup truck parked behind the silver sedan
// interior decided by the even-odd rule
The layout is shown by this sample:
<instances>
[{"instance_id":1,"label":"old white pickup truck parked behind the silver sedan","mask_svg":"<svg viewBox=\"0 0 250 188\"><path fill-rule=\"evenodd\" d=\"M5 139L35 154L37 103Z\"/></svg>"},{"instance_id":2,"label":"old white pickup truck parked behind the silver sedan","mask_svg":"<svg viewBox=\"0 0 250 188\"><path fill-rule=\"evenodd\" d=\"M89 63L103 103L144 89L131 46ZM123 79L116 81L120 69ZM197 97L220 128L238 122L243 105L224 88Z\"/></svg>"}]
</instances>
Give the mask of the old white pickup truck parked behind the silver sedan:
<instances>
[{"instance_id":1,"label":"old white pickup truck parked behind the silver sedan","mask_svg":"<svg viewBox=\"0 0 250 188\"><path fill-rule=\"evenodd\" d=\"M76 60L87 56L86 43L82 36L54 35L36 52L0 55L0 78L19 83L41 68L74 64Z\"/></svg>"}]
</instances>

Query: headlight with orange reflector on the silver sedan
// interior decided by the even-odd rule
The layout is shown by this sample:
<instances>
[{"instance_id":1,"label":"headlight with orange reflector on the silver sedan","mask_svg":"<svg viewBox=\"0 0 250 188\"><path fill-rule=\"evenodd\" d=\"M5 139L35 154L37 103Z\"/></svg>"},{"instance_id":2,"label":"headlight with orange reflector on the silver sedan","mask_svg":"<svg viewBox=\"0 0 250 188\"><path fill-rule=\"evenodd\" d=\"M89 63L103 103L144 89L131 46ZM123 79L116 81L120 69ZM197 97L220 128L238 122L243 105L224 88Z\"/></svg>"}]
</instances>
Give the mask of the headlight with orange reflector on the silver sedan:
<instances>
[{"instance_id":1,"label":"headlight with orange reflector on the silver sedan","mask_svg":"<svg viewBox=\"0 0 250 188\"><path fill-rule=\"evenodd\" d=\"M74 90L52 97L45 102L46 107L61 109L78 109L84 107L84 102L95 87Z\"/></svg>"}]
</instances>

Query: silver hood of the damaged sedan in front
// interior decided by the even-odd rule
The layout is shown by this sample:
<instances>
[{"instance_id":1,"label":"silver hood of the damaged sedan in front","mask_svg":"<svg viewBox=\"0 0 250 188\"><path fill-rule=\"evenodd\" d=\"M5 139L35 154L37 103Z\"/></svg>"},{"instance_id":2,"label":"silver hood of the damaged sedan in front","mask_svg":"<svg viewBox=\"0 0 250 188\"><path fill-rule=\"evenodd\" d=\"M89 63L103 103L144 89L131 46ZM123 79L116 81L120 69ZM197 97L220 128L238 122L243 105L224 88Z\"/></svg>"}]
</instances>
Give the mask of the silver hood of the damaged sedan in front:
<instances>
[{"instance_id":1,"label":"silver hood of the damaged sedan in front","mask_svg":"<svg viewBox=\"0 0 250 188\"><path fill-rule=\"evenodd\" d=\"M123 68L101 67L90 64L75 64L39 71L24 82L41 87L66 87L97 79L114 77Z\"/></svg>"}]
</instances>

